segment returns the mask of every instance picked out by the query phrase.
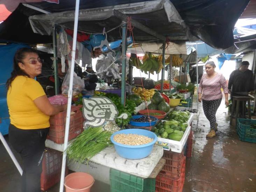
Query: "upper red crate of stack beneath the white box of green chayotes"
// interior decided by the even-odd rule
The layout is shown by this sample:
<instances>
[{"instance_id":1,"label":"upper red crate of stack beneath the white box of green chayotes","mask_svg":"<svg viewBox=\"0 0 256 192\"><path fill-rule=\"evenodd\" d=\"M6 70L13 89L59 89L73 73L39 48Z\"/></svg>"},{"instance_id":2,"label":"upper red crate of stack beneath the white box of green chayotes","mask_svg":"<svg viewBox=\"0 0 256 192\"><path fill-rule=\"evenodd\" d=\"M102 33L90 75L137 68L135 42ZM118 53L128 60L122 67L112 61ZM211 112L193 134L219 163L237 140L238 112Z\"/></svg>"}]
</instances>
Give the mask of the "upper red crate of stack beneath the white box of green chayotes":
<instances>
[{"instance_id":1,"label":"upper red crate of stack beneath the white box of green chayotes","mask_svg":"<svg viewBox=\"0 0 256 192\"><path fill-rule=\"evenodd\" d=\"M164 155L162 158L164 158L166 161L160 173L174 179L180 177L184 161L184 151L181 153L176 153L164 150Z\"/></svg>"}]
</instances>

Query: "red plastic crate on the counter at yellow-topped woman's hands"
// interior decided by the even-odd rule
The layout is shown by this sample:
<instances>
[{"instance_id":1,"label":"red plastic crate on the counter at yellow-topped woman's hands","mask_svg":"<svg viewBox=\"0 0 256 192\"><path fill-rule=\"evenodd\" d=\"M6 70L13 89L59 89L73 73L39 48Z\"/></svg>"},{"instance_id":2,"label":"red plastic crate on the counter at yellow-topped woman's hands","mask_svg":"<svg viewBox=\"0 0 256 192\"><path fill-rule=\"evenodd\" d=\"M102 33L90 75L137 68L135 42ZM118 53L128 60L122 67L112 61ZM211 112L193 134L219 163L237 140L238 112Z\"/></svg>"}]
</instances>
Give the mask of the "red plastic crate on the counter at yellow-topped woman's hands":
<instances>
[{"instance_id":1,"label":"red plastic crate on the counter at yellow-topped woman's hands","mask_svg":"<svg viewBox=\"0 0 256 192\"><path fill-rule=\"evenodd\" d=\"M74 114L70 115L69 140L83 131L84 118L80 111L81 107L82 105L71 106L71 112L74 112ZM66 114L67 112L64 111L50 117L50 130L47 137L49 140L58 144L64 143Z\"/></svg>"}]
</instances>

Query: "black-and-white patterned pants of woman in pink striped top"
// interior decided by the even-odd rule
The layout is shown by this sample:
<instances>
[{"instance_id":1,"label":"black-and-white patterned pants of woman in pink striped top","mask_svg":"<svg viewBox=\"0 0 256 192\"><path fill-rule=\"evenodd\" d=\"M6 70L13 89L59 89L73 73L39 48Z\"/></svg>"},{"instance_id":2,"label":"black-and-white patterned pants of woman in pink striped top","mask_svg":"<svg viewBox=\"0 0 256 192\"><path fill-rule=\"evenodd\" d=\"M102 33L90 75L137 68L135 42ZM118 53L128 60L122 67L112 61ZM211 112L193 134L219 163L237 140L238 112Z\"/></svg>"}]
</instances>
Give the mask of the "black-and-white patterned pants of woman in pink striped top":
<instances>
[{"instance_id":1,"label":"black-and-white patterned pants of woman in pink striped top","mask_svg":"<svg viewBox=\"0 0 256 192\"><path fill-rule=\"evenodd\" d=\"M202 100L204 113L208 121L210 121L211 129L215 128L215 123L216 123L215 115L216 115L217 109L220 106L221 100L222 99L216 99L211 101Z\"/></svg>"}]
</instances>

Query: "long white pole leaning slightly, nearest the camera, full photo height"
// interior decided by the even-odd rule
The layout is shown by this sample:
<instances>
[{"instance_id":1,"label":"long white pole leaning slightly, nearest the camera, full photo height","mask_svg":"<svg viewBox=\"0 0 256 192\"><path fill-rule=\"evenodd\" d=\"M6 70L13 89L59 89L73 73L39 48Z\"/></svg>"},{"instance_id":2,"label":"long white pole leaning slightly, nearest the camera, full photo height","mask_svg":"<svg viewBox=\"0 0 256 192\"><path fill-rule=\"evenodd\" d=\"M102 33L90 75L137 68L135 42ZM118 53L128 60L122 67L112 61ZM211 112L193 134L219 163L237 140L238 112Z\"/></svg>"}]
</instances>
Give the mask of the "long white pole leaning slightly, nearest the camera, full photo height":
<instances>
[{"instance_id":1,"label":"long white pole leaning slightly, nearest the camera, full photo height","mask_svg":"<svg viewBox=\"0 0 256 192\"><path fill-rule=\"evenodd\" d=\"M76 0L76 10L75 10L75 17L74 17L74 34L73 34L73 45L72 45L72 59L71 59L71 69L70 69L69 92L68 92L68 100L67 100L65 137L64 137L64 150L63 150L63 158L62 158L61 183L59 186L59 192L63 192L63 188L64 188L66 156L67 156L66 148L67 148L67 141L69 139L69 123L70 123L70 112L71 112L71 102L72 102L72 93L73 93L73 77L74 77L74 62L75 62L74 59L76 58L78 13L79 13L79 0Z\"/></svg>"}]
</instances>

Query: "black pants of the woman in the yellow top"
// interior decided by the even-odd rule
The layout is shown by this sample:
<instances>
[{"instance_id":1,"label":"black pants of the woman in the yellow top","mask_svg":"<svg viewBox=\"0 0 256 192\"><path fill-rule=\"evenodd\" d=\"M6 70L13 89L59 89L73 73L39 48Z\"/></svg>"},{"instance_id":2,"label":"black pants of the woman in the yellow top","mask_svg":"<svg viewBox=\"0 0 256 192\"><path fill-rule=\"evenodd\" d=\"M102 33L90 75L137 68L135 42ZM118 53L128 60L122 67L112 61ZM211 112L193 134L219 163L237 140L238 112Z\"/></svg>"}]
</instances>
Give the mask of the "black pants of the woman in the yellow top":
<instances>
[{"instance_id":1,"label":"black pants of the woman in the yellow top","mask_svg":"<svg viewBox=\"0 0 256 192\"><path fill-rule=\"evenodd\" d=\"M49 128L19 129L9 126L9 140L23 159L22 192L40 192L42 157Z\"/></svg>"}]
</instances>

